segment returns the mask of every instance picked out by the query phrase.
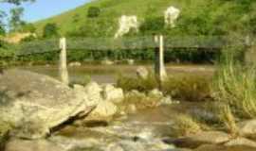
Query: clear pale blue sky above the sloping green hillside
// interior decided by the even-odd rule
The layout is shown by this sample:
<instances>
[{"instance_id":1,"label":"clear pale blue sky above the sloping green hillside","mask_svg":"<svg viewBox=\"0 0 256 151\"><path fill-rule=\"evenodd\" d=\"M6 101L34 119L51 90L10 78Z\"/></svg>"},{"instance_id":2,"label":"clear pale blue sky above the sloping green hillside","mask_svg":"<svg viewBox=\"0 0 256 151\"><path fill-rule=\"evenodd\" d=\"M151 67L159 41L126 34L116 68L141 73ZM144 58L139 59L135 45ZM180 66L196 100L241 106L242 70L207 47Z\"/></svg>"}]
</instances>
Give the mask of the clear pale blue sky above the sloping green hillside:
<instances>
[{"instance_id":1,"label":"clear pale blue sky above the sloping green hillside","mask_svg":"<svg viewBox=\"0 0 256 151\"><path fill-rule=\"evenodd\" d=\"M90 0L36 0L35 3L25 3L23 20L35 22L60 14L66 10L77 8ZM0 3L0 9L9 12L13 5Z\"/></svg>"}]
</instances>

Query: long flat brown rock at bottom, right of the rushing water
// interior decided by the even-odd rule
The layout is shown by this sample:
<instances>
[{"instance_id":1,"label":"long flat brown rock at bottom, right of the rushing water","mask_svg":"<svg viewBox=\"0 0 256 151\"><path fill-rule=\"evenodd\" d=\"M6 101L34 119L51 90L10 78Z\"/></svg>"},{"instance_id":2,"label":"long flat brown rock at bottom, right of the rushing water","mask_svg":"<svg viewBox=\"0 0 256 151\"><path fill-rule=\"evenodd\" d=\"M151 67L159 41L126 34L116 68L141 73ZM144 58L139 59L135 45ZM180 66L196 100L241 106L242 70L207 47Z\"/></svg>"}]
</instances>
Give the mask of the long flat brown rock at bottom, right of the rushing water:
<instances>
[{"instance_id":1,"label":"long flat brown rock at bottom, right of the rushing water","mask_svg":"<svg viewBox=\"0 0 256 151\"><path fill-rule=\"evenodd\" d=\"M164 140L165 143L174 144L177 147L182 148L197 148L202 144L217 144L226 143L230 139L230 136L224 132L219 131L206 131L198 134L188 135L187 137L179 139Z\"/></svg>"}]
</instances>

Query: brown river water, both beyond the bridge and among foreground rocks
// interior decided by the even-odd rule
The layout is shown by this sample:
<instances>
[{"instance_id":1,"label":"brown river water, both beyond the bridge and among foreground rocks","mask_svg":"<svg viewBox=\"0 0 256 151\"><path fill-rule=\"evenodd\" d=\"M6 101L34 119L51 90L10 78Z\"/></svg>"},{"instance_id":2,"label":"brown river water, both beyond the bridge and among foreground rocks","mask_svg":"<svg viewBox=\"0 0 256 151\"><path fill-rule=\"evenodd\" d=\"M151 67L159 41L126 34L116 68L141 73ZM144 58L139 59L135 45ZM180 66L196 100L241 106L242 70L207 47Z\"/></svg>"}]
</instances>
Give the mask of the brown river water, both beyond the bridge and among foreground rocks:
<instances>
[{"instance_id":1,"label":"brown river water, both beyond the bridge and among foreground rocks","mask_svg":"<svg viewBox=\"0 0 256 151\"><path fill-rule=\"evenodd\" d=\"M19 68L58 78L56 66ZM91 76L92 80L99 83L115 83L119 74L136 76L136 70L136 65L83 65L68 69L72 81L82 81L84 76ZM212 75L213 71L212 66L167 66L169 76L188 73ZM174 135L172 126L175 116L185 110L196 110L199 106L199 103L184 102L156 109L138 110L135 114L115 117L110 123L95 121L90 124L72 124L54 132L48 141L68 151L176 151L172 144L163 143L162 140Z\"/></svg>"}]
</instances>

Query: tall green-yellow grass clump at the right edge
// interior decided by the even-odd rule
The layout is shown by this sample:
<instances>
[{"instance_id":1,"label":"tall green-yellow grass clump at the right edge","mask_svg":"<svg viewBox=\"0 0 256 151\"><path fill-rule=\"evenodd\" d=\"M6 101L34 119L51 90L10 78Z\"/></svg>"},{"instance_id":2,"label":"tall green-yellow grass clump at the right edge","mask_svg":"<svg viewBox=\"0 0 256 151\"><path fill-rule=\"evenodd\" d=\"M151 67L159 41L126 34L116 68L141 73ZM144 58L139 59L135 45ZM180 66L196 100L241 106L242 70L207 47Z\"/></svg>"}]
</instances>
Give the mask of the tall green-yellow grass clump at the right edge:
<instances>
[{"instance_id":1,"label":"tall green-yellow grass clump at the right edge","mask_svg":"<svg viewBox=\"0 0 256 151\"><path fill-rule=\"evenodd\" d=\"M235 50L225 51L214 78L214 97L243 118L256 116L256 68L243 65Z\"/></svg>"}]
</instances>

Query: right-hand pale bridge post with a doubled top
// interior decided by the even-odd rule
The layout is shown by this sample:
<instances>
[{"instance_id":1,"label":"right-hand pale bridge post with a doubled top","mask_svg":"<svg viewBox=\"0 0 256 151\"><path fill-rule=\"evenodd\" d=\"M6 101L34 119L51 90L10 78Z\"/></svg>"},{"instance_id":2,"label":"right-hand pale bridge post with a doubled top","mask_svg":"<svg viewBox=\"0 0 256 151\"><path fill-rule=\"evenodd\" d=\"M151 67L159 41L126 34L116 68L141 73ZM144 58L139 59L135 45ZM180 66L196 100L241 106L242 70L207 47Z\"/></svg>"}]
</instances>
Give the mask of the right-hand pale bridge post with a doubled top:
<instances>
[{"instance_id":1,"label":"right-hand pale bridge post with a doubled top","mask_svg":"<svg viewBox=\"0 0 256 151\"><path fill-rule=\"evenodd\" d=\"M162 35L155 36L155 42L159 47L155 49L155 76L160 82L164 81L167 77L164 65L164 38Z\"/></svg>"}]
</instances>

